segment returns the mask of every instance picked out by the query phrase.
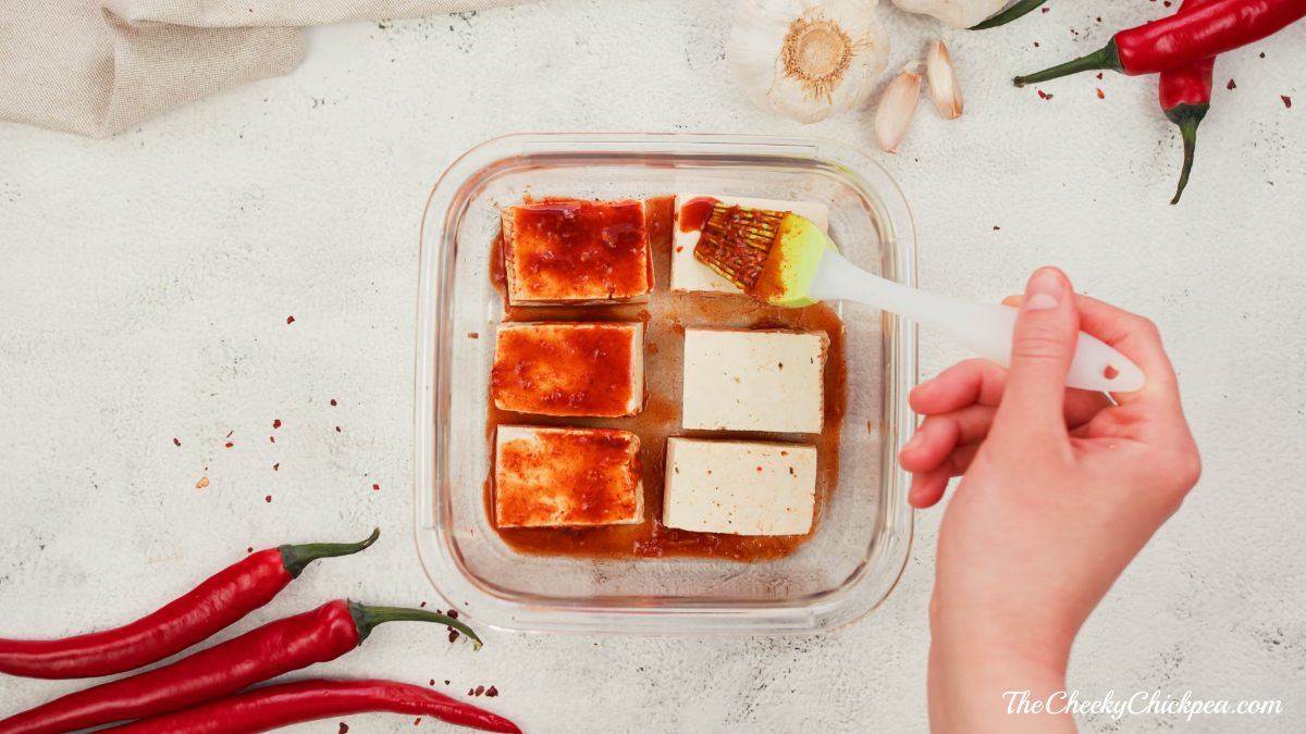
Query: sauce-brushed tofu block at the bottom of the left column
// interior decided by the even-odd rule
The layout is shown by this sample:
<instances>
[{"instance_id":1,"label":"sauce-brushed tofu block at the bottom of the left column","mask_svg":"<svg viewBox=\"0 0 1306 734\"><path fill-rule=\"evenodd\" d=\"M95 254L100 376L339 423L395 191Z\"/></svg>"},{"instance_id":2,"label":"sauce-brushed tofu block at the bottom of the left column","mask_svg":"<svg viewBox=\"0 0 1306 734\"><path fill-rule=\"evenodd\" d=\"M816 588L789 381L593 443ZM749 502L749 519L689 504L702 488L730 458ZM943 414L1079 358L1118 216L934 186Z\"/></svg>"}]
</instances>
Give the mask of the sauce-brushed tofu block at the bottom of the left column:
<instances>
[{"instance_id":1,"label":"sauce-brushed tofu block at the bottom of the left column","mask_svg":"<svg viewBox=\"0 0 1306 734\"><path fill-rule=\"evenodd\" d=\"M640 439L614 428L499 426L499 528L589 528L644 520Z\"/></svg>"}]
</instances>

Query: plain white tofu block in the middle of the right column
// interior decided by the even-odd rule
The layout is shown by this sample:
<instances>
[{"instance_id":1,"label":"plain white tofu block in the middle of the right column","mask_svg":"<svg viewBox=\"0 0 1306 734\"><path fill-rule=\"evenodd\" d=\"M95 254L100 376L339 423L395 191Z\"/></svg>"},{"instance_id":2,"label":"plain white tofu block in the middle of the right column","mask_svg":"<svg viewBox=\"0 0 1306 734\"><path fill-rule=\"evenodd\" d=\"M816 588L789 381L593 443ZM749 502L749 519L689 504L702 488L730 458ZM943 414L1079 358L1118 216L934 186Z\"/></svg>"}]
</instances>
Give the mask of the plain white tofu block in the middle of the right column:
<instances>
[{"instance_id":1,"label":"plain white tofu block in the middle of the right column","mask_svg":"<svg viewBox=\"0 0 1306 734\"><path fill-rule=\"evenodd\" d=\"M683 426L819 434L825 332L686 329Z\"/></svg>"}]
</instances>

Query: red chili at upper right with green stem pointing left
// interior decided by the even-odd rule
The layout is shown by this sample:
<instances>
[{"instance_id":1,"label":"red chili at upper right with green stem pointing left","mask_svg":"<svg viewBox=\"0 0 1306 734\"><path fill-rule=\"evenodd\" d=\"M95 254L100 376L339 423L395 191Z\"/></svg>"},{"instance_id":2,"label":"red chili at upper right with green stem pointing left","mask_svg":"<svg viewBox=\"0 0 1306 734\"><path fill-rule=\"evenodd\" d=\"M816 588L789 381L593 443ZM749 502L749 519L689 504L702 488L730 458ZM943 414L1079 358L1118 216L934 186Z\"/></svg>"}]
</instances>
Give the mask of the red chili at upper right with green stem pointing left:
<instances>
[{"instance_id":1,"label":"red chili at upper right with green stem pointing left","mask_svg":"<svg viewBox=\"0 0 1306 734\"><path fill-rule=\"evenodd\" d=\"M1087 56L1016 77L1015 82L1025 86L1096 69L1155 74L1260 40L1302 17L1306 0L1215 0L1188 13L1122 30Z\"/></svg>"}]
</instances>

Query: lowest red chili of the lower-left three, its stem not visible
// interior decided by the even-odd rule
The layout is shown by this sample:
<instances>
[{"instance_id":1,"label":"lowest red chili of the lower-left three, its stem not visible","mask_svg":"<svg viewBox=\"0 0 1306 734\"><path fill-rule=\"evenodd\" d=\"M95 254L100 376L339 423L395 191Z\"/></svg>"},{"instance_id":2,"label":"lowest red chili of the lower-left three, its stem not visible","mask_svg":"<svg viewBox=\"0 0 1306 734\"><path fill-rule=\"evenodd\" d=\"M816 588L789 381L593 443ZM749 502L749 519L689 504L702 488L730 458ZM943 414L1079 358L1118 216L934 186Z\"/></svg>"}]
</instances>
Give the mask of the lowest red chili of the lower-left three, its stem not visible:
<instances>
[{"instance_id":1,"label":"lowest red chili of the lower-left three, its stem not visible","mask_svg":"<svg viewBox=\"0 0 1306 734\"><path fill-rule=\"evenodd\" d=\"M124 734L248 734L368 712L431 716L483 731L521 734L507 718L444 694L394 680L300 680L255 688L111 729Z\"/></svg>"}]
</instances>

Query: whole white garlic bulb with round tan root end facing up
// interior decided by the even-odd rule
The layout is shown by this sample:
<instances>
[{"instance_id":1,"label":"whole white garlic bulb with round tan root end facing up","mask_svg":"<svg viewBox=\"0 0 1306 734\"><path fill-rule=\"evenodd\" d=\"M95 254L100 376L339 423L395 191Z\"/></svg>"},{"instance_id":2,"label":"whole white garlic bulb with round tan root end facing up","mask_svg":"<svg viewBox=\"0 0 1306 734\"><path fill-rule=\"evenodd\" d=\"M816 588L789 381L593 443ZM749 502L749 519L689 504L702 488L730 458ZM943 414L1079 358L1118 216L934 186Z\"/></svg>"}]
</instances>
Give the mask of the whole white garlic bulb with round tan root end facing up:
<instances>
[{"instance_id":1,"label":"whole white garlic bulb with round tan root end facing up","mask_svg":"<svg viewBox=\"0 0 1306 734\"><path fill-rule=\"evenodd\" d=\"M739 0L726 63L763 110L801 123L852 110L888 64L876 1Z\"/></svg>"}]
</instances>

